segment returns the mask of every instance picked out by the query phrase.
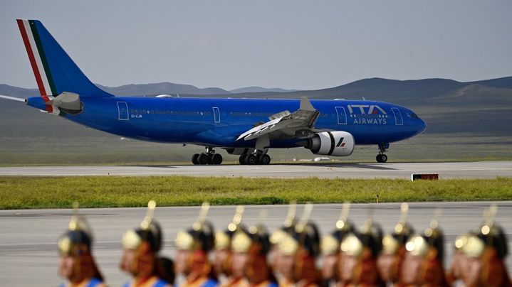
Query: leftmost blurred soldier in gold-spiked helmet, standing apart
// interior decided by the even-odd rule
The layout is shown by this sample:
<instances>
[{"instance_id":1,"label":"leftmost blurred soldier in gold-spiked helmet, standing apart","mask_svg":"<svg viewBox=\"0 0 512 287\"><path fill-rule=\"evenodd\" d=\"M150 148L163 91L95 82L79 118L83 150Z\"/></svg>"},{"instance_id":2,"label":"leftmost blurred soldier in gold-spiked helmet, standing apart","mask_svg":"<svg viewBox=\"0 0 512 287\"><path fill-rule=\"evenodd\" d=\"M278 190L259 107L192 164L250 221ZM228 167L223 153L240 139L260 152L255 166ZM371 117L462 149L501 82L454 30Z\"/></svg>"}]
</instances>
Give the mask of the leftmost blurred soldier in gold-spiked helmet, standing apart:
<instances>
[{"instance_id":1,"label":"leftmost blurred soldier in gold-spiked helmet, standing apart","mask_svg":"<svg viewBox=\"0 0 512 287\"><path fill-rule=\"evenodd\" d=\"M68 230L57 243L60 255L58 271L68 279L68 283L61 286L105 286L93 258L92 245L93 234L85 219L78 215L78 204L75 204Z\"/></svg>"}]
</instances>

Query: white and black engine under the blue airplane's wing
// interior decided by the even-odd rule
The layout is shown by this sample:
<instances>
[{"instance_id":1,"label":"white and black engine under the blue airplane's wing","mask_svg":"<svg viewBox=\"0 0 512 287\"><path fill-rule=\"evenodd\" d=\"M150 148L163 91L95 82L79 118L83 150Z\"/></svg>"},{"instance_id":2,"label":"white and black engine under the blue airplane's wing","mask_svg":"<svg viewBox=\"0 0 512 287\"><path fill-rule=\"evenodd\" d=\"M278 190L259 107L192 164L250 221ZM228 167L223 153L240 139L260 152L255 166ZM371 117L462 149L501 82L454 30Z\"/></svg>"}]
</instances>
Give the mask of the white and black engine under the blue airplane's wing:
<instances>
[{"instance_id":1,"label":"white and black engine under the blue airplane's wing","mask_svg":"<svg viewBox=\"0 0 512 287\"><path fill-rule=\"evenodd\" d=\"M354 136L346 131L323 131L308 139L305 148L325 156L350 156L354 151Z\"/></svg>"}]
</instances>

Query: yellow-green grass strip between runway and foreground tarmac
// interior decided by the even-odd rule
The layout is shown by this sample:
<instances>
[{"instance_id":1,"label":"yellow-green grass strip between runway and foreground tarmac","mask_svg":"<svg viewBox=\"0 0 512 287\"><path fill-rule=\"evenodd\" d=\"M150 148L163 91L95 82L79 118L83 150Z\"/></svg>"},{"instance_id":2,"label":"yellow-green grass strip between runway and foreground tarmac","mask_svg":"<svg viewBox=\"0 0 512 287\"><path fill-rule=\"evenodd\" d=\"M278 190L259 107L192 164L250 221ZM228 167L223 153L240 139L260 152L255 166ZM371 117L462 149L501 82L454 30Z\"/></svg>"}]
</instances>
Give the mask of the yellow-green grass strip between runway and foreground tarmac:
<instances>
[{"instance_id":1,"label":"yellow-green grass strip between runway and foreground tarmac","mask_svg":"<svg viewBox=\"0 0 512 287\"><path fill-rule=\"evenodd\" d=\"M355 180L187 176L0 177L0 209L511 200L512 178Z\"/></svg>"}]
</instances>

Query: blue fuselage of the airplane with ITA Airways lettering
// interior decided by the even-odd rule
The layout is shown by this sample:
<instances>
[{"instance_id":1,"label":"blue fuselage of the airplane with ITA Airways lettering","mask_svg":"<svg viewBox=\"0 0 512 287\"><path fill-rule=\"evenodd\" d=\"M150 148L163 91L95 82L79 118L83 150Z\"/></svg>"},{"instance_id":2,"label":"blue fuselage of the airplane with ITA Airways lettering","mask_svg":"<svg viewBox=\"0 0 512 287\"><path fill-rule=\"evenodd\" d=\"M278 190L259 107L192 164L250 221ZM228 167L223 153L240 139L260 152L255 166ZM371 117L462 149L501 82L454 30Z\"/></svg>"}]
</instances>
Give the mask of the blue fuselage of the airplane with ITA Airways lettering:
<instances>
[{"instance_id":1,"label":"blue fuselage of the airplane with ITA Airways lettering","mask_svg":"<svg viewBox=\"0 0 512 287\"><path fill-rule=\"evenodd\" d=\"M81 97L83 112L63 117L111 134L163 143L254 147L237 137L273 114L296 111L298 99L184 97ZM312 100L320 112L316 129L347 131L355 144L389 144L425 129L410 109L397 104L355 100ZM28 104L45 109L41 97ZM297 147L298 139L271 139L271 148Z\"/></svg>"}]
</instances>

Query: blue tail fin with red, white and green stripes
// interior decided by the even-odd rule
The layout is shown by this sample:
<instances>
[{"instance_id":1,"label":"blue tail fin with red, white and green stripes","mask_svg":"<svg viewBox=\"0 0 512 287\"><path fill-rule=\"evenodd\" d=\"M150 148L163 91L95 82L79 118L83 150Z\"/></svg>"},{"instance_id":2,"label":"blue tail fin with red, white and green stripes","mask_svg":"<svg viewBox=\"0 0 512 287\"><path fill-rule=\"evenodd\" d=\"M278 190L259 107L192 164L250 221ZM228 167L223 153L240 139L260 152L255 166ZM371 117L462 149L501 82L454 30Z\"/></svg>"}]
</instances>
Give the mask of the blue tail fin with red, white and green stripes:
<instances>
[{"instance_id":1,"label":"blue tail fin with red, white and green stripes","mask_svg":"<svg viewBox=\"0 0 512 287\"><path fill-rule=\"evenodd\" d=\"M63 92L79 94L80 97L113 97L85 77L43 23L21 19L16 22L44 102Z\"/></svg>"}]
</instances>

